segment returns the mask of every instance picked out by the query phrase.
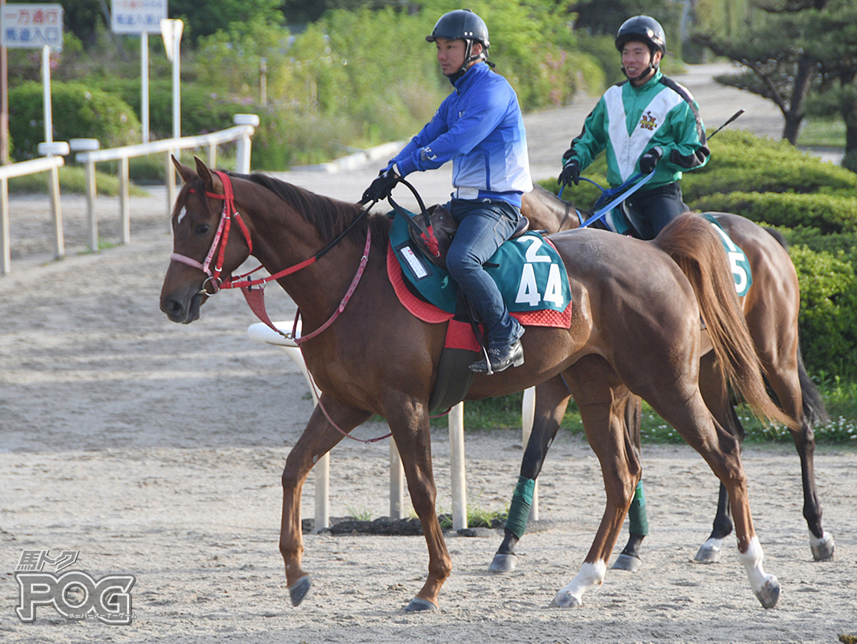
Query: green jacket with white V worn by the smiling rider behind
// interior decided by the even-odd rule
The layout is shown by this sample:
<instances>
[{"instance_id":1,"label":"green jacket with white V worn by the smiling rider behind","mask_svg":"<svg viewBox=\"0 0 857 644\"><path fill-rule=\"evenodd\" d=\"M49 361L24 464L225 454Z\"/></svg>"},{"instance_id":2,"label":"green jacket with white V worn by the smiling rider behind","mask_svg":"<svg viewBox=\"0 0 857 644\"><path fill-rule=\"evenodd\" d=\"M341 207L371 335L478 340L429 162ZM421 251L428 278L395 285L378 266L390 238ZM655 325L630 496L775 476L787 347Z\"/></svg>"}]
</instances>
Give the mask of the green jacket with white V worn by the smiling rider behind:
<instances>
[{"instance_id":1,"label":"green jacket with white V worn by the smiling rider behind","mask_svg":"<svg viewBox=\"0 0 857 644\"><path fill-rule=\"evenodd\" d=\"M661 149L661 160L640 192L679 181L710 156L698 104L660 70L644 86L625 81L604 92L562 160L576 158L584 170L606 149L607 180L615 187L639 172L639 158L653 147Z\"/></svg>"}]
</instances>

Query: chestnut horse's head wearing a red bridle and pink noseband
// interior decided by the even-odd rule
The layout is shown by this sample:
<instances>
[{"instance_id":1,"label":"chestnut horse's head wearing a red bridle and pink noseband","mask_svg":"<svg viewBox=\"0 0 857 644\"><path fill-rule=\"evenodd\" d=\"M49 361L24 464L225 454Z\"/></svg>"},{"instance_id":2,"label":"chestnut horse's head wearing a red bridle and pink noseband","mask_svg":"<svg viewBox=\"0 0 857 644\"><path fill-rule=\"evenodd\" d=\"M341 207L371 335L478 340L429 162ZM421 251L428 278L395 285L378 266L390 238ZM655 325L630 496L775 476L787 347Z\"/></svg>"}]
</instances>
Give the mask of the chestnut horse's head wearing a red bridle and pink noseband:
<instances>
[{"instance_id":1,"label":"chestnut horse's head wearing a red bridle and pink noseband","mask_svg":"<svg viewBox=\"0 0 857 644\"><path fill-rule=\"evenodd\" d=\"M200 317L202 304L219 291L220 276L231 275L251 251L249 230L232 201L231 180L195 161L196 171L172 158L184 185L172 211L173 253L160 296L161 311L184 324ZM236 221L243 236L230 238Z\"/></svg>"}]
</instances>

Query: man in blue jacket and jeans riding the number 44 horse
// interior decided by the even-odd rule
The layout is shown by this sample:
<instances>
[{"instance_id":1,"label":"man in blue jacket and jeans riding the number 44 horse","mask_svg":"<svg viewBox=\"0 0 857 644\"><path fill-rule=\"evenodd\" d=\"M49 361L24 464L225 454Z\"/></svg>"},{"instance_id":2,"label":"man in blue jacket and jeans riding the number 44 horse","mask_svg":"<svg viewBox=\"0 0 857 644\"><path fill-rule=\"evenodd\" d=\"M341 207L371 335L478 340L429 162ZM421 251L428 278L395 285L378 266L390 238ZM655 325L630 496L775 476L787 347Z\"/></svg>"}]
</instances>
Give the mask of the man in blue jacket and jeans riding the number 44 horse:
<instances>
[{"instance_id":1,"label":"man in blue jacket and jeans riding the number 44 horse","mask_svg":"<svg viewBox=\"0 0 857 644\"><path fill-rule=\"evenodd\" d=\"M450 11L434 25L440 71L455 91L423 130L387 165L363 194L389 196L400 177L452 161L452 200L446 205L458 231L446 267L482 317L487 355L470 365L479 373L524 363L524 327L509 315L482 265L518 224L521 194L532 189L524 119L508 81L488 69L488 27L469 9ZM486 359L487 358L487 359Z\"/></svg>"}]
</instances>

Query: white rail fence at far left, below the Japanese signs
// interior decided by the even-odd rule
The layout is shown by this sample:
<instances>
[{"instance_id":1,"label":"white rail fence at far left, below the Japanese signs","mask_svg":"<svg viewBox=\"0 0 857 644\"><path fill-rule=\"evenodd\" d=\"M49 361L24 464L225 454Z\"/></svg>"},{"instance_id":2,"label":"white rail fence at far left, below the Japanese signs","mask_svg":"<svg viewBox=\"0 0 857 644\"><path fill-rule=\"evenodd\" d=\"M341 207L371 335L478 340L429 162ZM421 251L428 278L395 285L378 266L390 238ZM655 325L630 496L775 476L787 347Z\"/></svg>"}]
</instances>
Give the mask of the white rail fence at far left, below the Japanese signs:
<instances>
[{"instance_id":1,"label":"white rail fence at far left, below the Japanese signs","mask_svg":"<svg viewBox=\"0 0 857 644\"><path fill-rule=\"evenodd\" d=\"M207 149L206 163L213 167L217 164L217 146L236 142L236 170L249 173L250 171L250 139L259 125L259 116L255 114L236 114L233 117L235 127L219 130L199 136L183 136L179 139L165 139L141 143L135 146L113 147L105 150L98 149L98 141L93 139L72 140L71 149L82 150L75 154L75 160L83 164L86 171L87 196L87 247L93 253L99 250L99 220L95 212L95 164L105 161L117 161L117 177L119 180L119 222L120 242L131 242L131 210L129 196L129 159L145 157L150 154L165 155L166 204L165 221L169 225L172 205L176 200L176 171L171 162L171 155L180 150ZM74 144L77 145L74 145ZM47 147L45 147L47 146ZM9 178L13 176L32 175L37 172L50 172L48 192L51 197L51 217L53 219L53 250L56 259L65 256L65 241L63 236L63 212L60 206L59 168L65 164L63 155L69 154L69 144L57 141L39 144L39 153L48 154L45 158L32 161L22 161L17 164L0 166L0 275L11 271L11 253L9 242ZM50 156L56 155L56 156Z\"/></svg>"}]
</instances>

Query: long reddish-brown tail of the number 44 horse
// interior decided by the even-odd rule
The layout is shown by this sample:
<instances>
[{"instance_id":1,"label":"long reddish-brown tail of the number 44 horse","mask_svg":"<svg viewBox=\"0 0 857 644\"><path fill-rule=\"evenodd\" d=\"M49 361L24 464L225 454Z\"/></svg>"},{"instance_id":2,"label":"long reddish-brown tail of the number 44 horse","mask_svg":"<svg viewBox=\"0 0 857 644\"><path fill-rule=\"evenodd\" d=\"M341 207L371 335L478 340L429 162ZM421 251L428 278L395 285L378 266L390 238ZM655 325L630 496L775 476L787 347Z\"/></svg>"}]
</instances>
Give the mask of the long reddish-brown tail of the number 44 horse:
<instances>
[{"instance_id":1,"label":"long reddish-brown tail of the number 44 horse","mask_svg":"<svg viewBox=\"0 0 857 644\"><path fill-rule=\"evenodd\" d=\"M698 215L682 215L661 231L654 244L690 281L726 380L759 417L797 429L765 389L762 363L740 311L732 271L711 224Z\"/></svg>"}]
</instances>

